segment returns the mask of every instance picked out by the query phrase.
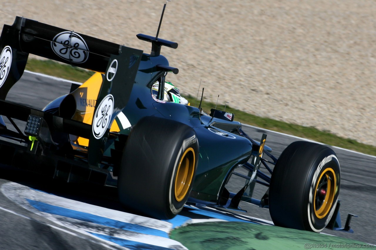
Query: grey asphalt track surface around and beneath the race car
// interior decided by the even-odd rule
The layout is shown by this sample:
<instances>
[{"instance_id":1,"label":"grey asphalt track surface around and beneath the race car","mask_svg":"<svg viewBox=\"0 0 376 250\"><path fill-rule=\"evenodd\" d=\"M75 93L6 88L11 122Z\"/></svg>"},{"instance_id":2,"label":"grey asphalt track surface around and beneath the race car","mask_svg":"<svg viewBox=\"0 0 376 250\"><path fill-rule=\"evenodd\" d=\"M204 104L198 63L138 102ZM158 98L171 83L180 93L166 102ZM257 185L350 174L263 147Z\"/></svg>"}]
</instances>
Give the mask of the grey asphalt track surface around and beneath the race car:
<instances>
[{"instance_id":1,"label":"grey asphalt track surface around and beneath the race car","mask_svg":"<svg viewBox=\"0 0 376 250\"><path fill-rule=\"evenodd\" d=\"M68 93L70 83L43 75L25 72L21 80L11 89L7 100L20 104L43 108L49 101ZM235 114L236 117L236 114ZM291 142L301 140L297 137L265 131L244 125L244 131L255 140L260 140L266 133L266 145L273 149L273 155L278 157L283 149ZM370 244L376 244L376 158L344 149L334 148L341 164L341 220L344 225L347 213L359 217L352 219L354 233L324 230L324 233L355 239ZM361 149L359 149L361 151ZM118 205L116 190L96 186L71 185L45 179L39 175L23 170L0 167L0 187L12 183L41 190L73 201L85 202L92 205L124 211ZM5 185L6 184L6 185ZM234 191L242 187L243 180L229 183L229 189ZM4 190L4 188L3 188ZM261 198L265 188L256 185L255 198ZM288 197L288 194L286 194ZM257 206L240 204L246 212L238 212L256 218L271 220L268 209ZM31 212L12 202L4 191L0 192L0 248L2 249L118 249L114 245L106 245L103 241L87 235L72 232L59 224L51 223L48 218Z\"/></svg>"}]
</instances>

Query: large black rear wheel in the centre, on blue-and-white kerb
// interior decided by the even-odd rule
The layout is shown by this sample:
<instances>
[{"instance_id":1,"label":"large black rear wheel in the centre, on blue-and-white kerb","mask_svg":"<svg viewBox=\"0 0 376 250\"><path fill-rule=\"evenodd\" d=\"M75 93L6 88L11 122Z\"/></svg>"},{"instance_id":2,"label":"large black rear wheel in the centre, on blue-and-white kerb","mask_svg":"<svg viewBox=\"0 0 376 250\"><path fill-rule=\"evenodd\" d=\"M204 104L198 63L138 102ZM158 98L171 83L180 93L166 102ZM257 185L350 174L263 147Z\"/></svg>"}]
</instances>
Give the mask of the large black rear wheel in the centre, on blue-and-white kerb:
<instances>
[{"instance_id":1,"label":"large black rear wheel in the centre, on blue-and-white kerb","mask_svg":"<svg viewBox=\"0 0 376 250\"><path fill-rule=\"evenodd\" d=\"M121 159L120 202L153 218L173 218L192 189L198 154L199 143L191 127L144 117L132 129Z\"/></svg>"}]
</instances>

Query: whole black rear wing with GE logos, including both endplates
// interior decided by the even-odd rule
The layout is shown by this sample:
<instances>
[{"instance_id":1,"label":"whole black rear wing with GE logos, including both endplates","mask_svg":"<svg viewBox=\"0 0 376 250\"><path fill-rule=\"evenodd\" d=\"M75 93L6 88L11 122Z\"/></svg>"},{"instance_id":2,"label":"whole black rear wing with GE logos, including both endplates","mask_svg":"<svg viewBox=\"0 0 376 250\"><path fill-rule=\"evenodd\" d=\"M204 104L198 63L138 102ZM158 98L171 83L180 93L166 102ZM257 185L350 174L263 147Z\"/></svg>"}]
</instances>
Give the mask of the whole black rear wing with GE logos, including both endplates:
<instances>
[{"instance_id":1,"label":"whole black rear wing with GE logos, including both endplates","mask_svg":"<svg viewBox=\"0 0 376 250\"><path fill-rule=\"evenodd\" d=\"M105 74L94 111L97 117L93 118L90 133L86 131L86 124L76 124L80 122L74 120L62 117L47 119L51 120L47 123L65 120L72 125L72 129L68 129L72 131L66 131L68 127L65 127L65 132L89 137L89 164L97 165L102 157L99 152L103 152L109 127L129 100L143 51L23 17L16 17L12 26L4 25L0 51L0 114L5 116L12 117L13 112L6 108L15 104L6 102L5 98L9 89L21 78L29 53ZM105 113L97 111L110 105L112 107ZM17 111L18 119L26 121L33 109L17 105ZM42 111L37 113L41 117L50 116ZM99 116L106 123L100 123ZM96 127L97 123L105 127ZM77 134L74 124L82 127L85 133ZM50 129L64 127L63 124L48 125Z\"/></svg>"}]
</instances>

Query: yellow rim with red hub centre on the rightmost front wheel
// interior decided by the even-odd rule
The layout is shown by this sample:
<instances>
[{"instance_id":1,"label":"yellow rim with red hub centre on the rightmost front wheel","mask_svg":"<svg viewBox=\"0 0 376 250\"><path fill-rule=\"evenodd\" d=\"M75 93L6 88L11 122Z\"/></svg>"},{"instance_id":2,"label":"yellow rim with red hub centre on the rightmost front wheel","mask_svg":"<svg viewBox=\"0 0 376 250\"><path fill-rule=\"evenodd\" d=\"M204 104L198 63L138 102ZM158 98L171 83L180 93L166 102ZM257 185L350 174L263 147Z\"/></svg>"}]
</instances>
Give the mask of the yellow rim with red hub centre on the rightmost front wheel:
<instances>
[{"instance_id":1,"label":"yellow rim with red hub centre on the rightmost front wheel","mask_svg":"<svg viewBox=\"0 0 376 250\"><path fill-rule=\"evenodd\" d=\"M324 218L333 206L337 179L334 170L327 168L318 178L315 195L314 211L317 218Z\"/></svg>"}]
</instances>

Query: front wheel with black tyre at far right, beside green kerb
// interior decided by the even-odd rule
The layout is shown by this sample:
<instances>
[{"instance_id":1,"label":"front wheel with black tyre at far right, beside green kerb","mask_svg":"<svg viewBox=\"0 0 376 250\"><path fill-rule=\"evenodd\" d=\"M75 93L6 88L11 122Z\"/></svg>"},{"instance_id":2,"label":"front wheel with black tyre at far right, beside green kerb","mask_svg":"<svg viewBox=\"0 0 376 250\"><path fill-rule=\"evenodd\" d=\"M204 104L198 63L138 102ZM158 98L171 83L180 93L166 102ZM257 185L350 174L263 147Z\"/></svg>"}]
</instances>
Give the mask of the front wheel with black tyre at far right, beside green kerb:
<instances>
[{"instance_id":1,"label":"front wheel with black tyre at far right, beside green kerb","mask_svg":"<svg viewBox=\"0 0 376 250\"><path fill-rule=\"evenodd\" d=\"M334 151L311 142L291 143L270 180L269 211L276 226L320 232L329 223L340 191Z\"/></svg>"}]
</instances>

